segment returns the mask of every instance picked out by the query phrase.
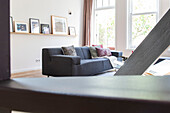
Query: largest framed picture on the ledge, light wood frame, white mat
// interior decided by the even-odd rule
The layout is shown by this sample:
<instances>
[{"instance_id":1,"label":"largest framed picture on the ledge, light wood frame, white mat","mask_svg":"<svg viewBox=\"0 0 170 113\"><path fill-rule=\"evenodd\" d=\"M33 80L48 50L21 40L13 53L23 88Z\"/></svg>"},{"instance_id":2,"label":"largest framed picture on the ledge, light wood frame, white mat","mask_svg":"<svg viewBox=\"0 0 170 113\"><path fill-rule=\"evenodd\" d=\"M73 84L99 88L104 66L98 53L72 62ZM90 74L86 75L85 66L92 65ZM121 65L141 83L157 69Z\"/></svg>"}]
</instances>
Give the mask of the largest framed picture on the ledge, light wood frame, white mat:
<instances>
[{"instance_id":1,"label":"largest framed picture on the ledge, light wood frame, white mat","mask_svg":"<svg viewBox=\"0 0 170 113\"><path fill-rule=\"evenodd\" d=\"M51 16L52 33L59 35L68 35L67 18Z\"/></svg>"}]
</instances>

